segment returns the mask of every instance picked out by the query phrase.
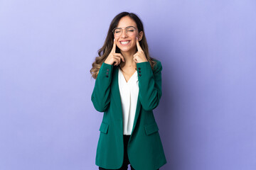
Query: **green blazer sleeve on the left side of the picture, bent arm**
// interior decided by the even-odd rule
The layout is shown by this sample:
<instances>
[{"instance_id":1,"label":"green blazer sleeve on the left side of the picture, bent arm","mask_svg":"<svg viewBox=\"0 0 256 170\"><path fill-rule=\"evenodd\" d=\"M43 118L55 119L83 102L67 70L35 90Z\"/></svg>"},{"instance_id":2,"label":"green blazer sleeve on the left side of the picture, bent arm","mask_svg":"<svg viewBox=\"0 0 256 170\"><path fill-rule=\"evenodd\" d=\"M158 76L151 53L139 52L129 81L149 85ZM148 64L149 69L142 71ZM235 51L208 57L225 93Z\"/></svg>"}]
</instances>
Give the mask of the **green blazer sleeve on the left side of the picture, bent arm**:
<instances>
[{"instance_id":1,"label":"green blazer sleeve on the left side of the picture, bent arm","mask_svg":"<svg viewBox=\"0 0 256 170\"><path fill-rule=\"evenodd\" d=\"M112 64L103 62L95 81L91 100L95 109L105 112L110 104L110 83L112 79Z\"/></svg>"}]
</instances>

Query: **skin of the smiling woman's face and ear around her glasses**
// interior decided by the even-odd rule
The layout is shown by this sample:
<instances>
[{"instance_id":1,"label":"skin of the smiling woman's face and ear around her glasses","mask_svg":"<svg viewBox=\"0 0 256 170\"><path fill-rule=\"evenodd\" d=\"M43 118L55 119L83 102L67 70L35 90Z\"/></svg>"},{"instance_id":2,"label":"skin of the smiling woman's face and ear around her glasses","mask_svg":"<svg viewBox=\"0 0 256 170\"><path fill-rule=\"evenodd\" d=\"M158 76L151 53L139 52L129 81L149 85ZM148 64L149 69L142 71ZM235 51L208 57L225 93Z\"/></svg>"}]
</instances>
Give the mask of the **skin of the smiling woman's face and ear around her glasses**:
<instances>
[{"instance_id":1,"label":"skin of the smiling woman's face and ear around her glasses","mask_svg":"<svg viewBox=\"0 0 256 170\"><path fill-rule=\"evenodd\" d=\"M119 47L119 49L121 50L121 52L128 52L130 50L134 50L135 52L137 51L137 36L138 39L141 40L143 32L141 31L138 34L138 28L136 23L132 20L132 18L130 18L129 16L124 16L123 18L120 19L117 28L127 28L128 26L134 26L134 28L136 28L136 30L134 31L134 33L126 33L125 29L122 30L122 35L120 35L119 37L114 35L114 40L117 43L117 47ZM127 44L122 44L122 42L126 42L128 41Z\"/></svg>"}]
</instances>

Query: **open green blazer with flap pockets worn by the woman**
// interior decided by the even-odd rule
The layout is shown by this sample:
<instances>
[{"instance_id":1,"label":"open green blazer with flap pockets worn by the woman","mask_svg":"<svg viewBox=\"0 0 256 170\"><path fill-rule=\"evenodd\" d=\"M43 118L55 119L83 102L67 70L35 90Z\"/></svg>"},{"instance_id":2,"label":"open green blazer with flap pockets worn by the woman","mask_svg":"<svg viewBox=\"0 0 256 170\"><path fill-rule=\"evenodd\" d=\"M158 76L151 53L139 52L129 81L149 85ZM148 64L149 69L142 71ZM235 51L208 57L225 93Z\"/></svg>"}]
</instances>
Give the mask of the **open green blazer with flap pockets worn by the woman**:
<instances>
[{"instance_id":1,"label":"open green blazer with flap pockets worn by the woman","mask_svg":"<svg viewBox=\"0 0 256 170\"><path fill-rule=\"evenodd\" d=\"M156 170L166 164L153 109L161 98L161 62L154 70L149 62L137 63L139 95L127 153L136 170ZM96 165L119 169L124 159L122 104L118 85L118 67L103 62L95 81L91 100L104 112L97 144Z\"/></svg>"}]
</instances>

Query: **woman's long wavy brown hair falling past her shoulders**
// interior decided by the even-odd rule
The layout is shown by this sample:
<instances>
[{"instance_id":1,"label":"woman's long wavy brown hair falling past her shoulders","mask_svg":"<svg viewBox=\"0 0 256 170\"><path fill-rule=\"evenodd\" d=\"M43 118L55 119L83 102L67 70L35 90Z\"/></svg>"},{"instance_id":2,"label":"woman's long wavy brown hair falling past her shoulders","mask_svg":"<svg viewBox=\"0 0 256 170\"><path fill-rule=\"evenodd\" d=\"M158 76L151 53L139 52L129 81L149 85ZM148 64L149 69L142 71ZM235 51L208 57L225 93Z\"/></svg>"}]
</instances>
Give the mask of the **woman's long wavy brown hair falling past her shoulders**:
<instances>
[{"instance_id":1,"label":"woman's long wavy brown hair falling past her shoulders","mask_svg":"<svg viewBox=\"0 0 256 170\"><path fill-rule=\"evenodd\" d=\"M95 57L95 62L92 63L92 69L90 69L90 73L92 74L92 77L94 79L97 79L97 74L99 73L102 63L105 62L105 60L107 59L107 56L110 55L110 52L112 50L112 46L114 43L114 35L112 33L112 30L117 27L120 19L124 16L129 16L130 18L132 18L132 20L136 23L139 32L143 31L142 40L139 41L139 45L142 47L142 50L144 51L146 59L149 61L151 65L151 69L153 69L156 64L156 62L154 61L154 58L149 56L149 46L147 45L147 42L146 42L146 35L144 32L142 21L139 19L139 17L135 13L122 12L117 14L117 16L115 16L111 21L110 28L107 32L107 37L105 39L104 45L100 48L100 50L98 50L99 56ZM120 53L119 47L116 47L116 52Z\"/></svg>"}]
</instances>

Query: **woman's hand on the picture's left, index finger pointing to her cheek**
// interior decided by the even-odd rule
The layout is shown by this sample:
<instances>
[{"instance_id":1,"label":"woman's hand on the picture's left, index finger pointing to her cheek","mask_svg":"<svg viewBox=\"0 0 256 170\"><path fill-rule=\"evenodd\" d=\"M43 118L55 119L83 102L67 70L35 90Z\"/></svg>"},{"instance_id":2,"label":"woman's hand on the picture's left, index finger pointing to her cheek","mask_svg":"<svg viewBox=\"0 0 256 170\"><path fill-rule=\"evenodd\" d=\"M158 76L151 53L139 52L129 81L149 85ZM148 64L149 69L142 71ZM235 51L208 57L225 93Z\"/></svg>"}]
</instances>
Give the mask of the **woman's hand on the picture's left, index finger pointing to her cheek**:
<instances>
[{"instance_id":1,"label":"woman's hand on the picture's left, index finger pointing to her cheek","mask_svg":"<svg viewBox=\"0 0 256 170\"><path fill-rule=\"evenodd\" d=\"M116 42L114 41L112 50L110 52L110 55L107 56L107 59L105 60L106 64L114 64L114 66L120 64L121 60L124 62L124 57L120 53L115 53L116 50Z\"/></svg>"}]
</instances>

